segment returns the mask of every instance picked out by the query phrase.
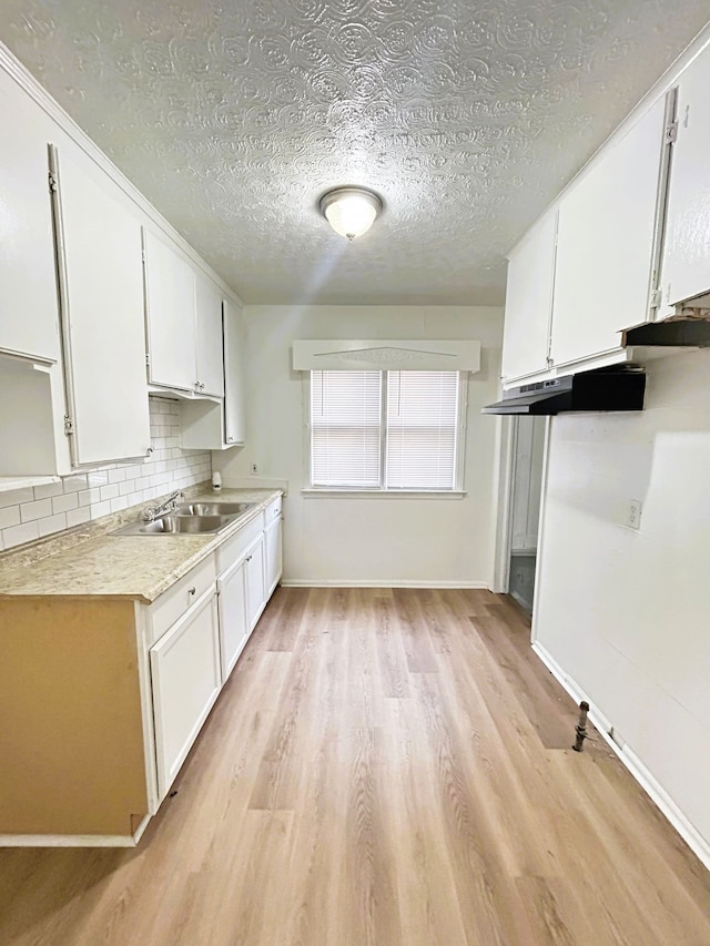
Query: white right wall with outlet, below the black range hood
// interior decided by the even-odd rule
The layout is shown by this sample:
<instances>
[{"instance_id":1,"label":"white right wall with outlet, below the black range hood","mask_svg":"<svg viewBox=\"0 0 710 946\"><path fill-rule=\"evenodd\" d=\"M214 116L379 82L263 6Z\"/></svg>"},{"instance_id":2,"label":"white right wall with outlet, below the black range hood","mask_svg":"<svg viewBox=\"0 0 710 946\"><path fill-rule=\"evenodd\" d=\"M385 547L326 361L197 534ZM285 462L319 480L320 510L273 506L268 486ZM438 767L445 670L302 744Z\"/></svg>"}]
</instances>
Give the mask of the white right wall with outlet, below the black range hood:
<instances>
[{"instance_id":1,"label":"white right wall with outlet, below the black range hood","mask_svg":"<svg viewBox=\"0 0 710 946\"><path fill-rule=\"evenodd\" d=\"M538 569L539 645L710 863L710 352L650 362L642 414L554 419Z\"/></svg>"}]
</instances>

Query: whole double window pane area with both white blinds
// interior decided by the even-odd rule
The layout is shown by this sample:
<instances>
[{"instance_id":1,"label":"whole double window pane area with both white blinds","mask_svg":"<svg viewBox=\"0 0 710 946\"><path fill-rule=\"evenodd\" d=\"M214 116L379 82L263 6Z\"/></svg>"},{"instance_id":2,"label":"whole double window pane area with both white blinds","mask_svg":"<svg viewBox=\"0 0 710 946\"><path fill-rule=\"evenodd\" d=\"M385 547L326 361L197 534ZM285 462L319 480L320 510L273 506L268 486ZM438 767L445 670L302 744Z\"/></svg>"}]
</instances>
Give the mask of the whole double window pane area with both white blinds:
<instances>
[{"instance_id":1,"label":"whole double window pane area with both white blinds","mask_svg":"<svg viewBox=\"0 0 710 946\"><path fill-rule=\"evenodd\" d=\"M311 372L311 485L459 489L462 377Z\"/></svg>"}]
</instances>

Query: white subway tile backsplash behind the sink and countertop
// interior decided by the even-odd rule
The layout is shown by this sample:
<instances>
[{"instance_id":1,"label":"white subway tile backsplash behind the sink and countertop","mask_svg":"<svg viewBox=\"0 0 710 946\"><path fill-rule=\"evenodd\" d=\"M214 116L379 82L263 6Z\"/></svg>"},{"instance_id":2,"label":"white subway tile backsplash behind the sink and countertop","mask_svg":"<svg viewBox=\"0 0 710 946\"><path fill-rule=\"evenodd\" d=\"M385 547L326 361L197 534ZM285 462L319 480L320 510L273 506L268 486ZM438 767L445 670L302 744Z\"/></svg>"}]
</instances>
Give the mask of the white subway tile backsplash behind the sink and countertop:
<instances>
[{"instance_id":1,"label":"white subway tile backsplash behind the sink and countertop","mask_svg":"<svg viewBox=\"0 0 710 946\"><path fill-rule=\"evenodd\" d=\"M144 462L106 464L60 482L0 492L0 550L210 479L210 454L179 446L176 401L151 397L149 404L153 454Z\"/></svg>"}]
</instances>

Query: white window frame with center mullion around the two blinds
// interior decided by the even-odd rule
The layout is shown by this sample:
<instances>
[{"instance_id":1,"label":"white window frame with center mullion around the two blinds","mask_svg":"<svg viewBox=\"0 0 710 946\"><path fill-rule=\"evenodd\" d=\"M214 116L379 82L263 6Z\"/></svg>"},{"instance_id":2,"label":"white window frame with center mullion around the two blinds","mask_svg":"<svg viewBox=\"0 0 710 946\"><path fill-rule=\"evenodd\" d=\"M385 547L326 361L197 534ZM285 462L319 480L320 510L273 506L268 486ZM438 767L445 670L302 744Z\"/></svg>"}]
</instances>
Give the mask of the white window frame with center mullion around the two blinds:
<instances>
[{"instance_id":1,"label":"white window frame with center mullion around the two blinds","mask_svg":"<svg viewBox=\"0 0 710 946\"><path fill-rule=\"evenodd\" d=\"M316 369L313 369L316 370ZM400 370L399 368L382 368L376 369L381 375L381 485L378 487L346 487L346 486L314 486L313 469L312 469L312 431L311 431L311 379L313 370L306 370L303 375L303 416L304 416L304 481L306 486L301 490L305 497L364 497L376 498L393 497L403 498L430 498L430 499L462 499L466 496L464 485L465 478L465 459L466 459L466 433L467 433L467 414L468 414L468 375L469 372L457 370L458 374L458 424L456 429L456 457L454 461L455 478L452 489L426 489L419 488L402 488L402 487L385 487L385 460L386 460L386 441L387 441L387 379L385 377L389 372ZM347 370L361 370L348 368ZM373 370L373 368L363 368L362 370ZM438 369L434 373L438 374Z\"/></svg>"}]
</instances>

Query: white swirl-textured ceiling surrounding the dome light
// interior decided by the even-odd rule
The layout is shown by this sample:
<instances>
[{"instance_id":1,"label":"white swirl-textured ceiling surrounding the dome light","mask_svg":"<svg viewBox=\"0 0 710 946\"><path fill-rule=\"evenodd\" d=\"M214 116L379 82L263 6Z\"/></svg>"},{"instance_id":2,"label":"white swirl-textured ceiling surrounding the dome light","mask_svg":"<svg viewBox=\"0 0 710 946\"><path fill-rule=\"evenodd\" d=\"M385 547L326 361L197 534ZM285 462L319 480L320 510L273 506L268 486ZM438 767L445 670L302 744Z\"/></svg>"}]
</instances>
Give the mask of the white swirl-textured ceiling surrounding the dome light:
<instances>
[{"instance_id":1,"label":"white swirl-textured ceiling surrounding the dome light","mask_svg":"<svg viewBox=\"0 0 710 946\"><path fill-rule=\"evenodd\" d=\"M0 39L247 303L486 304L707 0L2 0ZM385 213L348 244L337 184Z\"/></svg>"}]
</instances>

